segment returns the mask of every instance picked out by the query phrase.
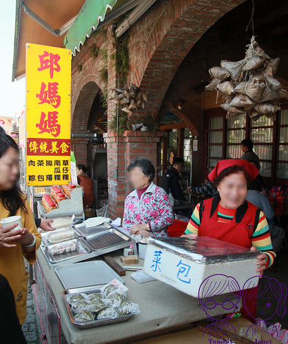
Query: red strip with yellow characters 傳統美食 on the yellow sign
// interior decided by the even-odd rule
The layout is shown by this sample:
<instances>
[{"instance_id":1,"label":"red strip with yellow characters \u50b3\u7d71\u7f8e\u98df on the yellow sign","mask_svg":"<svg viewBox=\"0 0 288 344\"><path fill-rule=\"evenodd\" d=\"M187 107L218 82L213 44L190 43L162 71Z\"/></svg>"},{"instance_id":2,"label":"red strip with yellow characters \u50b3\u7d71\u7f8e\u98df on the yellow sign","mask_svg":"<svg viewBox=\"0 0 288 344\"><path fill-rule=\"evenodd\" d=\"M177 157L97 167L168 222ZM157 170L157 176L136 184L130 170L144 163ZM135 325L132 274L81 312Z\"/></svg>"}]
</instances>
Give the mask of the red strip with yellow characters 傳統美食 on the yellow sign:
<instances>
[{"instance_id":1,"label":"red strip with yellow characters \u50b3\u7d71\u7f8e\u98df on the yellow sign","mask_svg":"<svg viewBox=\"0 0 288 344\"><path fill-rule=\"evenodd\" d=\"M27 139L27 155L70 156L70 140Z\"/></svg>"}]
</instances>

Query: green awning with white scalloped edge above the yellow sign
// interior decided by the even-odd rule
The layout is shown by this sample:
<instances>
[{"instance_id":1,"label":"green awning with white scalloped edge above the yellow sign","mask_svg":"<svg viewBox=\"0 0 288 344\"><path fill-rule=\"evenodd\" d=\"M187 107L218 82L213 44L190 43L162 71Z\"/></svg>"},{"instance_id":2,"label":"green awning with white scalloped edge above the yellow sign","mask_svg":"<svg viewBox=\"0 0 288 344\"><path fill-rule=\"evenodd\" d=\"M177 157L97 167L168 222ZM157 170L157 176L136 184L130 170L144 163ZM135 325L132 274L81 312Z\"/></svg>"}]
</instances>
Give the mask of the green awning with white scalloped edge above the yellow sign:
<instances>
[{"instance_id":1,"label":"green awning with white scalloped edge above the yellow sign","mask_svg":"<svg viewBox=\"0 0 288 344\"><path fill-rule=\"evenodd\" d=\"M71 49L72 54L80 51L80 45L86 37L90 37L92 30L95 30L99 21L103 21L107 9L115 6L117 0L86 0L77 17L64 38L65 48Z\"/></svg>"}]
</instances>

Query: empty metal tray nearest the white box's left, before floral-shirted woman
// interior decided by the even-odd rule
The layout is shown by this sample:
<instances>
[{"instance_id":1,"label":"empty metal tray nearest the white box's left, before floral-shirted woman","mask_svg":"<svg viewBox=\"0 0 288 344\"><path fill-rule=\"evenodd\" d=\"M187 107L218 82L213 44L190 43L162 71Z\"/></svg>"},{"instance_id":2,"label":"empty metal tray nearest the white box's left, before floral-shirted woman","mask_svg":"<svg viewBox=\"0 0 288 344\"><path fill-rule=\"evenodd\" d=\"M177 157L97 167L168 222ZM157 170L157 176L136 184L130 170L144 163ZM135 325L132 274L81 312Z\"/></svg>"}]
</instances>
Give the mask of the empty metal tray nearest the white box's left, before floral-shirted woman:
<instances>
[{"instance_id":1,"label":"empty metal tray nearest the white box's left, before floral-shirted woman","mask_svg":"<svg viewBox=\"0 0 288 344\"><path fill-rule=\"evenodd\" d=\"M110 230L105 230L96 234L84 236L83 240L93 251L103 250L108 247L115 247L117 245L123 245L127 241L130 241L129 236L111 228ZM121 248L119 247L119 248Z\"/></svg>"}]
</instances>

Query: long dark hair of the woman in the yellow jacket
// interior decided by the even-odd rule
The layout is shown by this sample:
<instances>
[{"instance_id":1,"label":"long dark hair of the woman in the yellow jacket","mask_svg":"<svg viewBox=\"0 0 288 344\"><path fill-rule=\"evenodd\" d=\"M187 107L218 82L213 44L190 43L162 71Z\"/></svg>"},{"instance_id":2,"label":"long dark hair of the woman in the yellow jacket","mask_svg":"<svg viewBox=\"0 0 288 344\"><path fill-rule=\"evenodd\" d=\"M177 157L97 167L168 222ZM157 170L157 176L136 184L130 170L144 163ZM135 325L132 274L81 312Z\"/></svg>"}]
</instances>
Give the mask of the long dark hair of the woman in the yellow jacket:
<instances>
[{"instance_id":1,"label":"long dark hair of the woman in the yellow jacket","mask_svg":"<svg viewBox=\"0 0 288 344\"><path fill-rule=\"evenodd\" d=\"M0 159L10 147L19 152L17 143L12 139L12 137L7 134L0 133ZM0 190L0 201L4 208L9 211L9 216L14 216L19 208L28 212L25 207L25 196L20 190L19 177L11 190Z\"/></svg>"}]
</instances>

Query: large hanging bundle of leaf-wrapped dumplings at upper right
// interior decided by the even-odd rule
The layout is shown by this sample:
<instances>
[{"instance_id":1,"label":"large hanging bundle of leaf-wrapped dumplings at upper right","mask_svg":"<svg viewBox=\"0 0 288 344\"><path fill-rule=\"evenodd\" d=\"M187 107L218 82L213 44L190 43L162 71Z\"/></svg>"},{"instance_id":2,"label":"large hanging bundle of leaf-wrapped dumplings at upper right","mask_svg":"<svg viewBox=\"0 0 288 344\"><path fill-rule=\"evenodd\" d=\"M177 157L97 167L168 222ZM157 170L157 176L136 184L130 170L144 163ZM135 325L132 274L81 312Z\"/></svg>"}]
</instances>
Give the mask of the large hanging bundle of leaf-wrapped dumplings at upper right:
<instances>
[{"instance_id":1,"label":"large hanging bundle of leaf-wrapped dumplings at upper right","mask_svg":"<svg viewBox=\"0 0 288 344\"><path fill-rule=\"evenodd\" d=\"M280 110L279 101L287 97L287 91L273 76L280 59L271 59L259 47L255 37L251 37L240 61L221 61L221 67L212 67L209 74L214 77L205 90L217 90L225 103L221 108L227 111L226 117L249 113L253 121L261 116L275 117ZM227 80L227 72L231 79Z\"/></svg>"}]
</instances>

